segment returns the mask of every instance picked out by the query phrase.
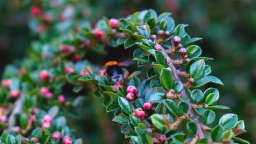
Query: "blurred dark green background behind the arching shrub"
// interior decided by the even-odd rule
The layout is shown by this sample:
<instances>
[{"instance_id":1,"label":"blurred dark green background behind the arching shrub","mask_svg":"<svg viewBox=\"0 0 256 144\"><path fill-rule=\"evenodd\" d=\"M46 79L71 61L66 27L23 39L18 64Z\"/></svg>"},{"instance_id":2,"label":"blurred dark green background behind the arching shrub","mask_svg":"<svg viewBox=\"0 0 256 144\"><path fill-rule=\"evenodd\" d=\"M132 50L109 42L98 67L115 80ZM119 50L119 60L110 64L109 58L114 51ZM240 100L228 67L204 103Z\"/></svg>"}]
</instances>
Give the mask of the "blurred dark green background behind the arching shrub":
<instances>
[{"instance_id":1,"label":"blurred dark green background behind the arching shrub","mask_svg":"<svg viewBox=\"0 0 256 144\"><path fill-rule=\"evenodd\" d=\"M60 0L61 1L61 0ZM62 0L64 1L64 0ZM75 0L73 0L75 1ZM28 28L30 7L27 1L0 0L0 73L4 66L25 56L33 39ZM248 133L246 140L256 143L256 1L255 0L102 0L83 1L89 11L87 19L92 23L102 16L124 17L142 9L154 9L158 14L170 11L177 23L188 24L186 31L191 37L201 37L203 56L212 57L209 62L213 75L218 76L225 86L218 86L219 104L230 110L218 111L237 113L244 119ZM107 51L111 51L107 47ZM116 50L119 54L101 58L119 60L132 56L132 50ZM94 62L95 58L88 57ZM124 58L123 58L124 59ZM127 59L127 58L126 58ZM135 69L131 67L131 69ZM208 85L213 86L213 85ZM216 87L216 85L214 85ZM69 125L74 133L86 143L127 143L119 132L119 125L111 121L112 113L106 113L101 100L90 96L80 112L80 118L70 118Z\"/></svg>"}]
</instances>

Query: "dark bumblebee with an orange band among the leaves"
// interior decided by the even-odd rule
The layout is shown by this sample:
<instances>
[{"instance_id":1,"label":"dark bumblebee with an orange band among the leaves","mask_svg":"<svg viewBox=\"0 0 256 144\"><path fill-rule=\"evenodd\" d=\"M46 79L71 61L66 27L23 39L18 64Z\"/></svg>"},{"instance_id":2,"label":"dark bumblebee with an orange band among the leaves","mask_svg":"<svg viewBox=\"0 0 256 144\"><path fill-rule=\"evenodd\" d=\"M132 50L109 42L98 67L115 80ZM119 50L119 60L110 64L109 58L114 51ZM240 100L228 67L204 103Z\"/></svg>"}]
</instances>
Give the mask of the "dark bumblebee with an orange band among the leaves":
<instances>
[{"instance_id":1,"label":"dark bumblebee with an orange band among the leaves","mask_svg":"<svg viewBox=\"0 0 256 144\"><path fill-rule=\"evenodd\" d=\"M112 82L117 83L124 80L124 71L117 61L109 61L105 64L104 75L108 76Z\"/></svg>"}]
</instances>

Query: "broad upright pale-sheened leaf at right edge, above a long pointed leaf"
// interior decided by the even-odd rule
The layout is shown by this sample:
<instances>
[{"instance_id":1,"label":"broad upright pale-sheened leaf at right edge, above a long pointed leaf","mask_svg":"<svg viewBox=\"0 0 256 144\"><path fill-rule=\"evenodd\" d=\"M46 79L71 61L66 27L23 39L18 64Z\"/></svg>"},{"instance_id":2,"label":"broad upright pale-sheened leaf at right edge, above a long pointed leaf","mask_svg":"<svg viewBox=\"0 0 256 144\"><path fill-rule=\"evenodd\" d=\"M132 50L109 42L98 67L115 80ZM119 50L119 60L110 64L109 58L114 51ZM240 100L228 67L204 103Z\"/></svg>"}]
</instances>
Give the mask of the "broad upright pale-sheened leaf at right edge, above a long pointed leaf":
<instances>
[{"instance_id":1,"label":"broad upright pale-sheened leaf at right edge, above a long pointed leaf","mask_svg":"<svg viewBox=\"0 0 256 144\"><path fill-rule=\"evenodd\" d=\"M189 75L194 80L198 80L205 72L205 61L203 59L196 61L190 66Z\"/></svg>"}]
</instances>

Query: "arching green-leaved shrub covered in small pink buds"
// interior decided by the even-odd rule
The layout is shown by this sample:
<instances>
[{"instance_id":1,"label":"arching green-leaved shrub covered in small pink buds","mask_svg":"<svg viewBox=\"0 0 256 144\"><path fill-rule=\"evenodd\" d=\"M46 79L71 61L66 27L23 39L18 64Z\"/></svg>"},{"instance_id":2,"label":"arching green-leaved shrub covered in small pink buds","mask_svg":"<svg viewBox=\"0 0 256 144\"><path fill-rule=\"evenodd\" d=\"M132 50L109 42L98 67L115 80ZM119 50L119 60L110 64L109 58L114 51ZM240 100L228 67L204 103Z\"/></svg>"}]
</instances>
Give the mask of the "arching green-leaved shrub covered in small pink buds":
<instances>
[{"instance_id":1,"label":"arching green-leaved shrub covered in small pink buds","mask_svg":"<svg viewBox=\"0 0 256 144\"><path fill-rule=\"evenodd\" d=\"M91 92L114 112L113 121L122 124L121 133L132 143L249 143L237 137L246 132L237 115L216 118L216 111L229 108L216 104L218 89L204 87L223 85L210 75L206 63L213 59L201 56L195 45L201 38L190 38L187 25L175 25L171 13L150 9L125 19L104 17L95 26L83 23L67 32L74 22L67 17L75 15L75 8L45 7L31 7L30 26L42 38L31 44L27 58L4 70L2 143L83 143L72 135L65 116L78 115ZM51 28L63 31L51 35ZM131 73L115 61L101 68L85 59L87 52L104 54L106 45L136 48L132 60L147 73ZM218 124L211 125L214 121Z\"/></svg>"}]
</instances>

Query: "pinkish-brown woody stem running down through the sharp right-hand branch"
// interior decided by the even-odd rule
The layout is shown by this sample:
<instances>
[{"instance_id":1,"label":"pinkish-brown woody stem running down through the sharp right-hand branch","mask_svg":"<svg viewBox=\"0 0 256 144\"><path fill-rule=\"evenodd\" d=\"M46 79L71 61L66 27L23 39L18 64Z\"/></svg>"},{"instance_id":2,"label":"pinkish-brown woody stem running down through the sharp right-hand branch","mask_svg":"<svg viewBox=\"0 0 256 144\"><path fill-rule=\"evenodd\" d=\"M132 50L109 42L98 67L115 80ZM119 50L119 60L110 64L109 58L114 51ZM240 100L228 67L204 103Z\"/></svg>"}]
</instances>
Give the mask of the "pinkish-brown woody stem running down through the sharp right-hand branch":
<instances>
[{"instance_id":1,"label":"pinkish-brown woody stem running down through the sharp right-hand branch","mask_svg":"<svg viewBox=\"0 0 256 144\"><path fill-rule=\"evenodd\" d=\"M165 55L166 57L169 57L169 56L167 55L167 53L165 52L164 49L162 50L162 53L164 53L164 55ZM174 65L173 65L172 62L169 63L169 68L171 69L171 73L172 73L172 76L174 77L175 81L182 82L181 79L179 78L179 75L178 75L178 73L177 73L177 70L176 70L176 68L174 67ZM182 97L188 98L188 95L187 95L187 93L185 92L185 89L182 90L181 94L182 94ZM189 116L189 117L194 117L195 114L194 114L194 112L193 112L193 109L192 109L192 106L191 106L190 101L187 101L187 103L188 103L188 105L189 105L188 116ZM196 123L196 125L197 125L196 134L199 136L199 139L205 138L205 135L203 134L202 129L201 129L201 127L200 127L201 124L199 123L198 120L196 120L195 123Z\"/></svg>"}]
</instances>

